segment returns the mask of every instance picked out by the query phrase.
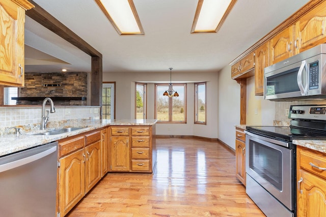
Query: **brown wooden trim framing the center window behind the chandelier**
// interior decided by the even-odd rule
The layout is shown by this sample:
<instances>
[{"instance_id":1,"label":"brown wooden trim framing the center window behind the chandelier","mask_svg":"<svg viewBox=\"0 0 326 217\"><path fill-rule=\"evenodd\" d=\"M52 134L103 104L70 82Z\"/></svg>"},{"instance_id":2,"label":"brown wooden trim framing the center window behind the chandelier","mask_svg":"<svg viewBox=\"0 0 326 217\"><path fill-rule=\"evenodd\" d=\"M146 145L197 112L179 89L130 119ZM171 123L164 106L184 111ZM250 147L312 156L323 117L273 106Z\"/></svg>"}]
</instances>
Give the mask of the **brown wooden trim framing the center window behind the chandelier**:
<instances>
[{"instance_id":1,"label":"brown wooden trim framing the center window behind the chandelier","mask_svg":"<svg viewBox=\"0 0 326 217\"><path fill-rule=\"evenodd\" d=\"M183 121L176 121L172 120L172 102L173 98L175 97L169 97L169 120L168 121L161 121L157 120L157 123L187 123L187 83L174 83L174 86L183 86L184 87L184 120ZM156 110L156 104L157 104L157 86L169 86L169 83L155 83L155 96L154 96L154 118L157 119L157 110Z\"/></svg>"}]
</instances>

